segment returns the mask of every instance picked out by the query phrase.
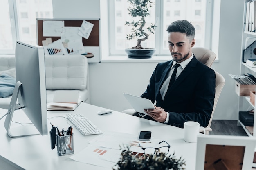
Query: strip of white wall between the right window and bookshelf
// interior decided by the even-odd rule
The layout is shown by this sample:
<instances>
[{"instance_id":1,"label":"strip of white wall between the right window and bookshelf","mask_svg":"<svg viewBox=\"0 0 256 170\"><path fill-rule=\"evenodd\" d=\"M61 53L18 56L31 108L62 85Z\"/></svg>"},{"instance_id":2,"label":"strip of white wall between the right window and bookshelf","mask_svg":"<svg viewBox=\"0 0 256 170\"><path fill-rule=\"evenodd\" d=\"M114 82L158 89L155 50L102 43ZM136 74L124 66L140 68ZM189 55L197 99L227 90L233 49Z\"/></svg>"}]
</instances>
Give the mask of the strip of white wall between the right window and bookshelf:
<instances>
[{"instance_id":1,"label":"strip of white wall between the right window and bookshelf","mask_svg":"<svg viewBox=\"0 0 256 170\"><path fill-rule=\"evenodd\" d=\"M220 94L213 119L238 119L238 95L235 81L228 75L240 74L244 0L220 1L219 62L212 68L224 76L226 83ZM213 37L214 38L214 37Z\"/></svg>"}]
</instances>

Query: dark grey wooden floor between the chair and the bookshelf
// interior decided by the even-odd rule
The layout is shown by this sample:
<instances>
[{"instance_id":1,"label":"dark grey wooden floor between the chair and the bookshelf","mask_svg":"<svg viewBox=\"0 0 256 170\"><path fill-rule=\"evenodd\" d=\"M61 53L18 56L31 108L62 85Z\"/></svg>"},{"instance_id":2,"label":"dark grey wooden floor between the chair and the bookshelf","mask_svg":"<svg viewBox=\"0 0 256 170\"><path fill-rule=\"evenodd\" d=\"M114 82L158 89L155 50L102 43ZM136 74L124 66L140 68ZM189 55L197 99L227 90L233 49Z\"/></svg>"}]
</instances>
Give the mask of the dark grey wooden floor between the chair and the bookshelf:
<instances>
[{"instance_id":1,"label":"dark grey wooden floor between the chair and the bookshelf","mask_svg":"<svg viewBox=\"0 0 256 170\"><path fill-rule=\"evenodd\" d=\"M248 136L242 126L237 126L237 120L212 120L211 129L209 135Z\"/></svg>"}]
</instances>

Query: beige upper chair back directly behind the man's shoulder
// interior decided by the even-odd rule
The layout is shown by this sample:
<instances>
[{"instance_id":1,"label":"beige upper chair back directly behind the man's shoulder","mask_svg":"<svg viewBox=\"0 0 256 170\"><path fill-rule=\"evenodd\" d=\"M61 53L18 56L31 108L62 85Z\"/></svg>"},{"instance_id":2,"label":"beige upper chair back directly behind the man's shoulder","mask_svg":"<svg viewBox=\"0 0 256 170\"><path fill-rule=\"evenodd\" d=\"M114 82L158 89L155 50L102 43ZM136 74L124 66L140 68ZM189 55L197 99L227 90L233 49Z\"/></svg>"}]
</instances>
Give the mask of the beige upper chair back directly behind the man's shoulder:
<instances>
[{"instance_id":1,"label":"beige upper chair back directly behind the man's shoulder","mask_svg":"<svg viewBox=\"0 0 256 170\"><path fill-rule=\"evenodd\" d=\"M211 67L213 61L216 59L216 54L207 48L193 47L192 53L198 61L208 67Z\"/></svg>"}]
</instances>

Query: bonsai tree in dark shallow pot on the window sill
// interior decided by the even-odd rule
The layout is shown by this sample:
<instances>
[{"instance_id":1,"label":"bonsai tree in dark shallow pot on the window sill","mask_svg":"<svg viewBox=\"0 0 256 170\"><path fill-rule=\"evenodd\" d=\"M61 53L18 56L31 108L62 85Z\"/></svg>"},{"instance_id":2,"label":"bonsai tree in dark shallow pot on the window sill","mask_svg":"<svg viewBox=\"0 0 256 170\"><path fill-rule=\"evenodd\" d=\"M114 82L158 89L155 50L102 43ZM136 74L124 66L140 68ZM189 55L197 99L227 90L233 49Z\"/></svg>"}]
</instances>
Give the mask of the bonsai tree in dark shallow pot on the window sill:
<instances>
[{"instance_id":1,"label":"bonsai tree in dark shallow pot on the window sill","mask_svg":"<svg viewBox=\"0 0 256 170\"><path fill-rule=\"evenodd\" d=\"M144 28L146 24L145 18L150 14L149 9L153 7L153 2L152 0L128 0L128 2L128 13L134 20L126 21L125 23L125 25L132 26L132 31L126 35L126 39L137 39L137 46L125 51L130 58L150 58L154 54L155 49L143 48L141 42L147 40L148 36L155 32L155 24L151 23L146 30Z\"/></svg>"}]
</instances>

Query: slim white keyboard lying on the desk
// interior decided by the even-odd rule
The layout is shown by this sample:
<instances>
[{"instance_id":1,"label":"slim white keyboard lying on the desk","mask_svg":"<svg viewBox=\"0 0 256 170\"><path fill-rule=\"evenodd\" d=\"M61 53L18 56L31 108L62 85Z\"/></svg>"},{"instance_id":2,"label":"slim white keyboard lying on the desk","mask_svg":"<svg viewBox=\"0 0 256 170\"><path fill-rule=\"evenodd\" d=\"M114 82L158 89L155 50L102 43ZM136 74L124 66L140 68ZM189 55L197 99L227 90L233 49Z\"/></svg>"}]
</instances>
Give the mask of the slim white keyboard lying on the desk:
<instances>
[{"instance_id":1,"label":"slim white keyboard lying on the desk","mask_svg":"<svg viewBox=\"0 0 256 170\"><path fill-rule=\"evenodd\" d=\"M97 126L81 114L66 114L66 116L83 135L96 135L102 133Z\"/></svg>"}]
</instances>

